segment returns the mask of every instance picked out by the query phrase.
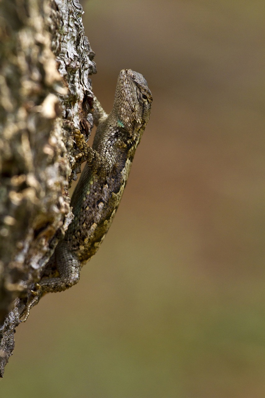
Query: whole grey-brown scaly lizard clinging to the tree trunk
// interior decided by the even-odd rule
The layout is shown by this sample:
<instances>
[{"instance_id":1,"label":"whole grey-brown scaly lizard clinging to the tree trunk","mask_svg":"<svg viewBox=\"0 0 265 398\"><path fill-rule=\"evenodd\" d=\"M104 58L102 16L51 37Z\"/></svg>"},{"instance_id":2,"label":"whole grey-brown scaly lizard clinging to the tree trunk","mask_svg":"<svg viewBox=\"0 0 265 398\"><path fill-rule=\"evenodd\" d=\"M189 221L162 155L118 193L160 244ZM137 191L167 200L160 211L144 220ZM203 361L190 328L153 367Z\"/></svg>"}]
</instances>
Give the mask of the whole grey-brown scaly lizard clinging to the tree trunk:
<instances>
[{"instance_id":1,"label":"whole grey-brown scaly lizard clinging to the tree trunk","mask_svg":"<svg viewBox=\"0 0 265 398\"><path fill-rule=\"evenodd\" d=\"M151 103L152 94L144 76L123 69L109 115L94 98L97 130L92 147L80 130L73 131L80 150L76 160L82 158L87 162L70 203L74 219L39 283L30 290L21 322L25 322L43 294L75 285L81 267L97 252L121 201L136 148L150 117Z\"/></svg>"}]
</instances>

